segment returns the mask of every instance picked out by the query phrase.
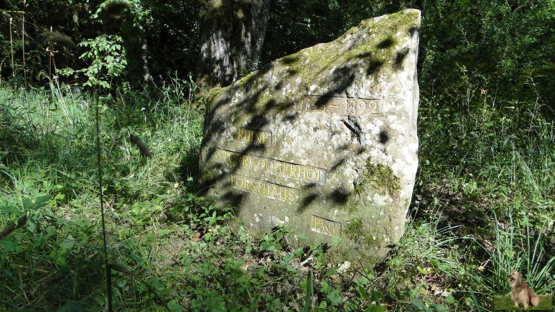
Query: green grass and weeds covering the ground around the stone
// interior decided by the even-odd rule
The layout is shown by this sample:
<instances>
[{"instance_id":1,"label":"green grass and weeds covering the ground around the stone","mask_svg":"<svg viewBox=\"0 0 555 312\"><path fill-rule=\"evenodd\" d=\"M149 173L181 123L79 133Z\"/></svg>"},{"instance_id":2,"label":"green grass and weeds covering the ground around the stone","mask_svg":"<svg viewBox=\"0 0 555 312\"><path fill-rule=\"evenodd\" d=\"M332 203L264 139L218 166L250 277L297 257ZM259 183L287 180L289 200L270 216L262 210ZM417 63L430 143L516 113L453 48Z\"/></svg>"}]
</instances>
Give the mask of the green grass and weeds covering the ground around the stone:
<instances>
[{"instance_id":1,"label":"green grass and weeds covering the ground around the stone","mask_svg":"<svg viewBox=\"0 0 555 312\"><path fill-rule=\"evenodd\" d=\"M370 270L287 247L287 227L256 236L196 195L194 92L0 87L0 227L28 216L0 239L0 311L106 306L97 104L108 258L133 272L112 270L117 311L493 311L511 270L555 289L555 128L539 103L422 98L411 220Z\"/></svg>"}]
</instances>

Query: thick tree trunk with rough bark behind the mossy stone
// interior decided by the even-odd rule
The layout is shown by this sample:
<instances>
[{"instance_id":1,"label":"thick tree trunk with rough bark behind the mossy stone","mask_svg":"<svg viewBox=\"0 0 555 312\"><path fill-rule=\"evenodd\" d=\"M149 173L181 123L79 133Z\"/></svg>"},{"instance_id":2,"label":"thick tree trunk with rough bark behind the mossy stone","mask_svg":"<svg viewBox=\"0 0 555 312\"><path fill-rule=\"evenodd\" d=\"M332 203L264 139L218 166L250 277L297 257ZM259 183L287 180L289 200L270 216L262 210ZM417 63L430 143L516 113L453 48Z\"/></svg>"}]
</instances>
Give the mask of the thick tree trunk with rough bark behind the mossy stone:
<instances>
[{"instance_id":1,"label":"thick tree trunk with rough bark behind the mossy stone","mask_svg":"<svg viewBox=\"0 0 555 312\"><path fill-rule=\"evenodd\" d=\"M198 83L225 87L257 67L270 0L203 0Z\"/></svg>"}]
</instances>

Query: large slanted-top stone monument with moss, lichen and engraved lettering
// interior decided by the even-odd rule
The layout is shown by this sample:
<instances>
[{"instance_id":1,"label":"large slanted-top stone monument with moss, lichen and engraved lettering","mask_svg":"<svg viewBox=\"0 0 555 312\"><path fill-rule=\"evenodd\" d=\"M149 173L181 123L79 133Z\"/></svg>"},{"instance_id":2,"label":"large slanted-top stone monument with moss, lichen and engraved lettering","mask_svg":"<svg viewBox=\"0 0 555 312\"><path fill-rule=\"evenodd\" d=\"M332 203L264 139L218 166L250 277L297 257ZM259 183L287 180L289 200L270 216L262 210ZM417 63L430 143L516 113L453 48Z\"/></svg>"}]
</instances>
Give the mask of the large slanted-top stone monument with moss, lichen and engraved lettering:
<instances>
[{"instance_id":1,"label":"large slanted-top stone monument with moss, lichen and engraved lettering","mask_svg":"<svg viewBox=\"0 0 555 312\"><path fill-rule=\"evenodd\" d=\"M362 21L207 103L200 182L259 232L372 266L404 233L418 167L420 11Z\"/></svg>"}]
</instances>

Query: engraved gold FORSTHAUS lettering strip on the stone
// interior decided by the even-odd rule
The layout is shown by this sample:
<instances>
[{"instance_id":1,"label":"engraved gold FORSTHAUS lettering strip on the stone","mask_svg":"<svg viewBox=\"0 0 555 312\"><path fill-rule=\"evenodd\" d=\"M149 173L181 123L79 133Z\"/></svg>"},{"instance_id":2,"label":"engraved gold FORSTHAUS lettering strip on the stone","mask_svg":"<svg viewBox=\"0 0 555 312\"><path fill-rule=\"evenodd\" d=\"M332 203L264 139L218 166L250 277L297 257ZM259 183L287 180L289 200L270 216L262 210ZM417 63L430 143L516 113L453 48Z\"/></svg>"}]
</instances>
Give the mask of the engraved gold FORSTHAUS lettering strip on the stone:
<instances>
[{"instance_id":1,"label":"engraved gold FORSTHAUS lettering strip on the stone","mask_svg":"<svg viewBox=\"0 0 555 312\"><path fill-rule=\"evenodd\" d=\"M258 193L269 198L287 200L289 202L296 202L299 197L298 189L292 189L291 187L284 187L280 184L257 180L252 177L244 177L233 173L230 173L229 176L229 185L235 189Z\"/></svg>"}]
</instances>

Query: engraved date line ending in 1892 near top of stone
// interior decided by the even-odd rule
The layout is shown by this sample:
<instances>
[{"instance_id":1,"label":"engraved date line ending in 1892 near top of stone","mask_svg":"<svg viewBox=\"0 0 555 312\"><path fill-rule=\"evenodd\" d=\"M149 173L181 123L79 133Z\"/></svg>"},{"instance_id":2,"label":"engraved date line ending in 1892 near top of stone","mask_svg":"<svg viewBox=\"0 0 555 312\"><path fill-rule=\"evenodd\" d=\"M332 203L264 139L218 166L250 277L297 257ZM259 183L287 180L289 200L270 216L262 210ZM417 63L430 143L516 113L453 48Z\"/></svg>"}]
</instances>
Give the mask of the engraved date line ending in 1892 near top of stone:
<instances>
[{"instance_id":1,"label":"engraved date line ending in 1892 near top of stone","mask_svg":"<svg viewBox=\"0 0 555 312\"><path fill-rule=\"evenodd\" d=\"M356 115L356 116L378 116L375 112L378 100L365 98L343 98L339 96L305 96L300 100L301 111L327 112L330 114ZM316 102L323 104L316 105ZM297 107L297 106L296 106Z\"/></svg>"}]
</instances>

